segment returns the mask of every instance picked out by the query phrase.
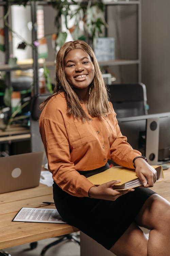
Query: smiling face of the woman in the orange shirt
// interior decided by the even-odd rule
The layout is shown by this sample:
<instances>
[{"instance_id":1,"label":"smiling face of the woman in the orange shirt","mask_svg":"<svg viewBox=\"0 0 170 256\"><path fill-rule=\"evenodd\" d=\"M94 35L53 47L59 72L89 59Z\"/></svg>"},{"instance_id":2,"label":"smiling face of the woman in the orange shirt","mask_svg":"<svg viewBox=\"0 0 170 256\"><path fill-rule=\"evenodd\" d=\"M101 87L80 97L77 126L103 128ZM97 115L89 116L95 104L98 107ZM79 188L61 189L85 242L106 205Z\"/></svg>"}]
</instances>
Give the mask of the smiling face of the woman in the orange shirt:
<instances>
[{"instance_id":1,"label":"smiling face of the woman in the orange shirt","mask_svg":"<svg viewBox=\"0 0 170 256\"><path fill-rule=\"evenodd\" d=\"M77 89L87 88L94 79L95 69L90 56L81 49L71 50L64 60L67 81Z\"/></svg>"}]
</instances>

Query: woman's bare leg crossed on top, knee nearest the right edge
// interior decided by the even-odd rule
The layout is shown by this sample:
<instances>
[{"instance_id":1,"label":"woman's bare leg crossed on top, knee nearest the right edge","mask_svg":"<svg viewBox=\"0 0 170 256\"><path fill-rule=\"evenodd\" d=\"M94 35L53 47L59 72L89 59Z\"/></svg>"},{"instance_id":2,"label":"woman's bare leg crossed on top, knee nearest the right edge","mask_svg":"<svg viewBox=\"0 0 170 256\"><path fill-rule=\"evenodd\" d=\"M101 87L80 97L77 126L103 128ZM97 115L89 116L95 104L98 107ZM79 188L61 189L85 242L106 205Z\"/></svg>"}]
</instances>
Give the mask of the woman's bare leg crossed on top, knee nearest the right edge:
<instances>
[{"instance_id":1,"label":"woman's bare leg crossed on top, knee nearest the right edge","mask_svg":"<svg viewBox=\"0 0 170 256\"><path fill-rule=\"evenodd\" d=\"M153 194L143 204L136 224L150 229L148 256L170 255L170 203Z\"/></svg>"}]
</instances>

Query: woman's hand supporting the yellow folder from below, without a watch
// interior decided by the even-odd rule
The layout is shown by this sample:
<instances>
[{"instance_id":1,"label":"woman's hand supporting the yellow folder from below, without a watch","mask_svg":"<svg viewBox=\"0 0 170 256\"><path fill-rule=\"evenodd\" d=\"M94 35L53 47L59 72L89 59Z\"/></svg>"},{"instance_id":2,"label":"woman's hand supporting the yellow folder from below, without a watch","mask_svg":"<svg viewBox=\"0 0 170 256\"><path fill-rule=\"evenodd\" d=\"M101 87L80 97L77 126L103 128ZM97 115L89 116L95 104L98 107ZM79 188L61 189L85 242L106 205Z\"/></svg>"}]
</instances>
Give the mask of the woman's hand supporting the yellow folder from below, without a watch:
<instances>
[{"instance_id":1,"label":"woman's hand supporting the yellow folder from below, without a watch","mask_svg":"<svg viewBox=\"0 0 170 256\"><path fill-rule=\"evenodd\" d=\"M112 180L99 186L91 187L88 191L89 197L115 201L118 197L134 189L114 190L113 186L120 183L120 180Z\"/></svg>"}]
</instances>

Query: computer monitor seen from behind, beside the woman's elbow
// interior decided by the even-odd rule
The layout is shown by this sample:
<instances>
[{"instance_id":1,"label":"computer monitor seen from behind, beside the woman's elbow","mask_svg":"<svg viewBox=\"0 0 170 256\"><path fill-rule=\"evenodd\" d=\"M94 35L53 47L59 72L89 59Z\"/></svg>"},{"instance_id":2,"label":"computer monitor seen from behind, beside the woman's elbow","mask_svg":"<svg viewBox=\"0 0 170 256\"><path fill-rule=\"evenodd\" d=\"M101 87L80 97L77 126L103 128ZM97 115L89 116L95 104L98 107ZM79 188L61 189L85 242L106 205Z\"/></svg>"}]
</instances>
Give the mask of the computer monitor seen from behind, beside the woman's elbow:
<instances>
[{"instance_id":1,"label":"computer monitor seen from behind, beside the woman's elbow","mask_svg":"<svg viewBox=\"0 0 170 256\"><path fill-rule=\"evenodd\" d=\"M162 164L170 159L170 112L117 120L129 144L146 156L149 164Z\"/></svg>"}]
</instances>

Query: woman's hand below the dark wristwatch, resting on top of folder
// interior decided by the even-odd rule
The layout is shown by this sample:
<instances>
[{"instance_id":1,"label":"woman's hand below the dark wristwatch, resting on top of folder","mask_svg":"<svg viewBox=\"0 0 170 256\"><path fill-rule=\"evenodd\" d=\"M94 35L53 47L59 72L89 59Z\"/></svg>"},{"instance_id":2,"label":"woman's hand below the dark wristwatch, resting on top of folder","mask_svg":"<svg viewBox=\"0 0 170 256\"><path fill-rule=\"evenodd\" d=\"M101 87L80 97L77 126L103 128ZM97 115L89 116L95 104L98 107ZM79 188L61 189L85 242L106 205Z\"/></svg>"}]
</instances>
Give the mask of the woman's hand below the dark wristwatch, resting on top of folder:
<instances>
[{"instance_id":1,"label":"woman's hand below the dark wristwatch, resting on top of folder","mask_svg":"<svg viewBox=\"0 0 170 256\"><path fill-rule=\"evenodd\" d=\"M137 158L135 160L136 166L136 175L142 181L142 184L145 188L153 187L157 179L156 170L149 165L143 158Z\"/></svg>"}]
</instances>

